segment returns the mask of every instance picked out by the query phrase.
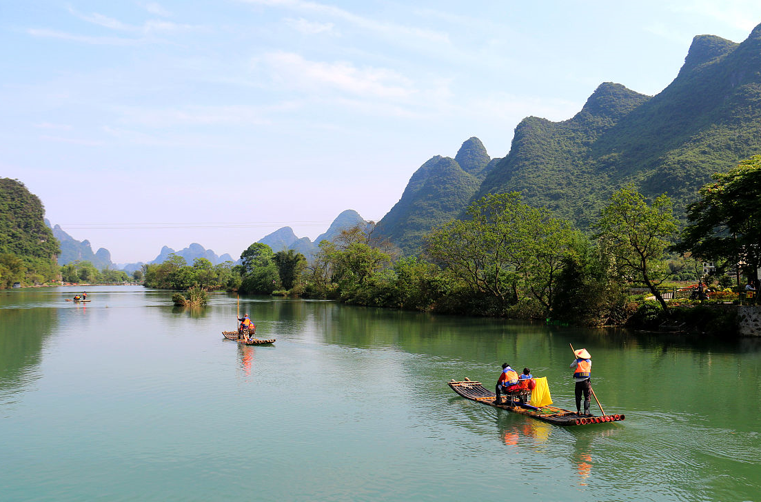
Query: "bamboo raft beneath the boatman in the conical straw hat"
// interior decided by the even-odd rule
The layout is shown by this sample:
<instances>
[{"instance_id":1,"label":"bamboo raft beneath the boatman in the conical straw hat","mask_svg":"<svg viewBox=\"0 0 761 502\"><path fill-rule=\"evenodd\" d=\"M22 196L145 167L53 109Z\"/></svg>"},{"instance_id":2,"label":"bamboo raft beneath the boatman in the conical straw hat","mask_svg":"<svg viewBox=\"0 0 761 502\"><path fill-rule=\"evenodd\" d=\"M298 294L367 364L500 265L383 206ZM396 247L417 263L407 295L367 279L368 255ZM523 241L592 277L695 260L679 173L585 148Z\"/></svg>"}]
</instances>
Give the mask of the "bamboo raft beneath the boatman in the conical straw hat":
<instances>
[{"instance_id":1,"label":"bamboo raft beneath the boatman in the conical straw hat","mask_svg":"<svg viewBox=\"0 0 761 502\"><path fill-rule=\"evenodd\" d=\"M496 404L494 402L497 397L494 392L489 391L481 382L474 382L471 379L466 378L463 382L455 382L454 379L448 382L448 385L454 392L463 396L463 398L470 399L471 401L477 401L482 404L489 404L495 408L501 408L503 410L512 411L513 413L519 413L527 415L537 420L543 420L550 424L572 426L572 425L588 425L588 424L602 424L603 422L615 422L618 420L624 420L624 415L603 415L602 417L584 416L580 417L575 411L564 410L562 408L556 408L555 406L542 406L537 408L530 404L521 404L519 402L511 401L508 397L508 401L505 404Z\"/></svg>"}]
</instances>

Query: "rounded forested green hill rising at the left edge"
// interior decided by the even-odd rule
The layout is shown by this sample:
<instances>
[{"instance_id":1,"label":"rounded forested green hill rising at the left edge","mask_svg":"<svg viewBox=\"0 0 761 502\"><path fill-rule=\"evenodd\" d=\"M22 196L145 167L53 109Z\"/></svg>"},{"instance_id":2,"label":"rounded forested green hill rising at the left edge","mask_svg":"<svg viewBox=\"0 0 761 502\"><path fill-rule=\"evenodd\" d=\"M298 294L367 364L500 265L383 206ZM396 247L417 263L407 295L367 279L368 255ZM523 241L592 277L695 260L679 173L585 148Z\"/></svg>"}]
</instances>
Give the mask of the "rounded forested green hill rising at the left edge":
<instances>
[{"instance_id":1,"label":"rounded forested green hill rising at the left edge","mask_svg":"<svg viewBox=\"0 0 761 502\"><path fill-rule=\"evenodd\" d=\"M58 277L59 243L44 213L40 199L21 181L0 178L0 287Z\"/></svg>"}]
</instances>

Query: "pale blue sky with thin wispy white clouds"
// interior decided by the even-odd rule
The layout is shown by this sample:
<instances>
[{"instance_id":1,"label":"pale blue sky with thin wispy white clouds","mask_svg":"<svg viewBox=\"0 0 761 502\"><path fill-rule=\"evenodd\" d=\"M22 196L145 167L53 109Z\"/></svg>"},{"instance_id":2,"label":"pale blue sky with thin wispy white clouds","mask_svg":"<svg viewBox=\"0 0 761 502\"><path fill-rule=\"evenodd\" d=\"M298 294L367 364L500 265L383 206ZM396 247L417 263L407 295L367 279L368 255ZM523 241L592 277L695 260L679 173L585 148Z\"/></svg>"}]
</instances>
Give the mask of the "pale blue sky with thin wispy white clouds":
<instances>
[{"instance_id":1,"label":"pale blue sky with thin wispy white clouds","mask_svg":"<svg viewBox=\"0 0 761 502\"><path fill-rule=\"evenodd\" d=\"M115 263L240 256L345 209L378 221L434 155L510 151L602 82L658 94L761 2L0 3L0 177Z\"/></svg>"}]
</instances>

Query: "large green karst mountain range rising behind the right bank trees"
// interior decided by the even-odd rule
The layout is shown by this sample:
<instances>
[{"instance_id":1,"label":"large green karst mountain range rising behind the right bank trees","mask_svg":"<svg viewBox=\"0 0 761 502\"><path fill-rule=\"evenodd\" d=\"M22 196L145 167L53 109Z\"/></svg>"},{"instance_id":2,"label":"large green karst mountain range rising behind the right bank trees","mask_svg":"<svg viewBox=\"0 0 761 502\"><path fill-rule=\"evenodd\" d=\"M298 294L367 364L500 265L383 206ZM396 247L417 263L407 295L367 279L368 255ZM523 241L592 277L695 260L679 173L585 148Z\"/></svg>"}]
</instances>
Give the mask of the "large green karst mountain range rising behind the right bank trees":
<instances>
[{"instance_id":1,"label":"large green karst mountain range rising behind the right bank trees","mask_svg":"<svg viewBox=\"0 0 761 502\"><path fill-rule=\"evenodd\" d=\"M677 78L655 96L606 82L571 119L521 120L508 155L482 171L460 165L460 153L431 158L377 230L415 253L422 235L470 201L513 190L588 229L628 183L648 196L668 193L683 216L712 174L761 152L759 125L761 25L739 44L699 35Z\"/></svg>"}]
</instances>

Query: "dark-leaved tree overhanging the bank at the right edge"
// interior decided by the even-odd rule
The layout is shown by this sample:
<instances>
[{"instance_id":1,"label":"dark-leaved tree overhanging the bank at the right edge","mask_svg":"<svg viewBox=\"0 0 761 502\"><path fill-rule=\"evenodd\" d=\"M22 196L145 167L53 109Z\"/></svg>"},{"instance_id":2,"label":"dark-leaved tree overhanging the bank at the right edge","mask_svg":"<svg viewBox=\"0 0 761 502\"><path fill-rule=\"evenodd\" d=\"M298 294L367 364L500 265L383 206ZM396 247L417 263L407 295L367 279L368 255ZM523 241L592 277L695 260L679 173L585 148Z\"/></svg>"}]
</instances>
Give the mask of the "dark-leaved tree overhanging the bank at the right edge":
<instances>
[{"instance_id":1,"label":"dark-leaved tree overhanging the bank at the right edge","mask_svg":"<svg viewBox=\"0 0 761 502\"><path fill-rule=\"evenodd\" d=\"M689 225L674 246L693 256L716 261L721 268L739 265L757 279L761 264L761 155L741 161L699 191L687 206Z\"/></svg>"}]
</instances>

